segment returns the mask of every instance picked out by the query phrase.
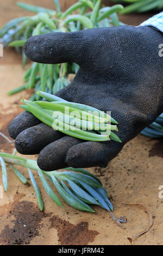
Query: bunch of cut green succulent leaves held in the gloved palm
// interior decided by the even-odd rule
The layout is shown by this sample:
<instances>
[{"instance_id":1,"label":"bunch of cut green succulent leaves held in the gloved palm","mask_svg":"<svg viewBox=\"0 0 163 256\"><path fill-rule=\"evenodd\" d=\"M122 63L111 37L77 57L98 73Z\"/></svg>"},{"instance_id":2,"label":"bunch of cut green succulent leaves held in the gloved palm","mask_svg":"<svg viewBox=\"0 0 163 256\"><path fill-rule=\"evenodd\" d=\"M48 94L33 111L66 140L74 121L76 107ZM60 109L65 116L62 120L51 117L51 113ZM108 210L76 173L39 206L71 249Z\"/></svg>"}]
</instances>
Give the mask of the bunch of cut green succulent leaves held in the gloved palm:
<instances>
[{"instance_id":1,"label":"bunch of cut green succulent leaves held in the gloved palm","mask_svg":"<svg viewBox=\"0 0 163 256\"><path fill-rule=\"evenodd\" d=\"M85 141L114 141L121 142L112 132L118 131L117 121L109 114L87 105L69 102L44 92L37 92L48 101L22 100L26 105L20 105L32 113L43 123L66 135L84 139ZM109 124L108 124L109 122Z\"/></svg>"}]
</instances>

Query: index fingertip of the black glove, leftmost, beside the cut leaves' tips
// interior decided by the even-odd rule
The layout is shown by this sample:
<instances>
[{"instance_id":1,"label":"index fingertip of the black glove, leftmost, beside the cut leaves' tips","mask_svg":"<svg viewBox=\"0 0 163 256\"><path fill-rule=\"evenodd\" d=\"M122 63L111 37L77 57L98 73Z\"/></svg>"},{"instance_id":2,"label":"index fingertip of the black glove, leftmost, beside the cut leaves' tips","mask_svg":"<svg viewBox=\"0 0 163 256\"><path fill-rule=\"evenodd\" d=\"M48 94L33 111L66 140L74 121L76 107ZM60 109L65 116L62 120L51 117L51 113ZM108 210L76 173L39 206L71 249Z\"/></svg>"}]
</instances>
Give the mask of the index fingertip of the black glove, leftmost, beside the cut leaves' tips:
<instances>
[{"instance_id":1,"label":"index fingertip of the black glove, leftmost, beside the cut leaves' tips","mask_svg":"<svg viewBox=\"0 0 163 256\"><path fill-rule=\"evenodd\" d=\"M24 111L11 121L9 125L9 135L12 139L16 139L23 130L40 123L41 121L34 117L33 114Z\"/></svg>"}]
</instances>

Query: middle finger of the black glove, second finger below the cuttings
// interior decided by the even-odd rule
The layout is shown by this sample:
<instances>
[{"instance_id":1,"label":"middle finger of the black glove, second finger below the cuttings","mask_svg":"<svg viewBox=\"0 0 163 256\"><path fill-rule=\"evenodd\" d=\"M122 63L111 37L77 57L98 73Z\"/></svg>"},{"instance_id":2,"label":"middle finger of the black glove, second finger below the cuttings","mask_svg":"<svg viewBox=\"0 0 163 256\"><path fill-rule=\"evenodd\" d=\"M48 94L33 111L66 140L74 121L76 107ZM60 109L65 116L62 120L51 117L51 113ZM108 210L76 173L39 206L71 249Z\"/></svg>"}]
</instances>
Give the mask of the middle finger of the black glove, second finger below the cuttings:
<instances>
[{"instance_id":1,"label":"middle finger of the black glove, second finger below the cuttings","mask_svg":"<svg viewBox=\"0 0 163 256\"><path fill-rule=\"evenodd\" d=\"M41 123L22 131L15 140L15 148L20 154L35 155L46 147L49 143L54 142L64 136L52 127Z\"/></svg>"}]
</instances>

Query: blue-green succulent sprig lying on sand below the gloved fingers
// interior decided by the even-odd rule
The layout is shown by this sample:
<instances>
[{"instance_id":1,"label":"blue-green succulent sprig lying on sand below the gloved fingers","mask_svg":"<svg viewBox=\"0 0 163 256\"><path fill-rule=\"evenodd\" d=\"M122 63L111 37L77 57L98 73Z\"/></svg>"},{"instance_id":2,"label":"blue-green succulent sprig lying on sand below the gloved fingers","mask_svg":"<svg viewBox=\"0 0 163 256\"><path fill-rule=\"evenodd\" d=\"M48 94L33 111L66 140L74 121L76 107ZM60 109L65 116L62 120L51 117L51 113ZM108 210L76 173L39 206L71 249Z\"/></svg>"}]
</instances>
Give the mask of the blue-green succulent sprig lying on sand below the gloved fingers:
<instances>
[{"instance_id":1,"label":"blue-green succulent sprig lying on sand below the gloved fingers","mask_svg":"<svg viewBox=\"0 0 163 256\"><path fill-rule=\"evenodd\" d=\"M27 178L15 168L15 165L25 167L28 170L28 175L34 187L41 211L43 210L43 202L41 192L36 183L38 176L48 196L60 207L62 207L62 203L57 194L52 190L53 186L55 186L59 196L73 208L93 213L95 211L90 205L98 205L103 209L108 210L112 220L120 225L121 228L125 228L112 214L113 206L108 198L108 193L102 186L102 182L88 170L68 167L61 170L53 170L52 172L44 172L37 166L37 162L34 160L1 152L0 160L2 164L5 191L7 191L8 184L6 164L9 164L10 167L12 167L16 176L23 182L23 184L27 183ZM37 172L36 179L34 178L32 169ZM51 186L48 181L51 182Z\"/></svg>"}]
</instances>

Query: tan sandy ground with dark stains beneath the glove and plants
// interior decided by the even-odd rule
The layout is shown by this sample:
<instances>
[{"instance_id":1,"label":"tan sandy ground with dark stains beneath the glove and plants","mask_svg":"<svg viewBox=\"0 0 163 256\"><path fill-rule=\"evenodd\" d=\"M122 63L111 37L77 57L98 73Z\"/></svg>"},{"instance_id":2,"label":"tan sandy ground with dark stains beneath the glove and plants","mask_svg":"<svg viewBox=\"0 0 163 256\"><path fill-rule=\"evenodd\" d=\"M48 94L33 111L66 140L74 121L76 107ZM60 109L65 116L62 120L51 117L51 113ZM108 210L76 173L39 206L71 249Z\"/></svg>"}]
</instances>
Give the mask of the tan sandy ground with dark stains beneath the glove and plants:
<instances>
[{"instance_id":1,"label":"tan sandy ground with dark stains beneath the glove and plants","mask_svg":"<svg viewBox=\"0 0 163 256\"><path fill-rule=\"evenodd\" d=\"M16 1L6 0L1 3L0 26L11 17L27 14L26 11L20 12L17 7L13 7L14 2ZM30 0L28 3L52 7L51 0L46 3ZM123 17L121 20L139 25L148 16L150 14L134 15ZM28 97L31 93L28 91L14 96L6 95L8 90L22 84L23 74L21 56L6 48L4 57L0 58L0 131L7 136L10 121L21 112L17 103L22 96ZM1 151L11 153L13 149L14 143L8 144L0 137ZM159 186L163 185L162 152L161 140L156 141L139 135L123 148L107 168L90 169L101 179L108 191L114 205L114 215L118 218L126 216L124 230L111 220L107 211L98 206L93 206L95 214L75 210L64 202L64 207L60 209L43 192L35 174L45 203L45 210L40 212L30 181L28 185L22 185L8 167L8 192L4 192L3 198L0 198L0 244L13 245L13 241L16 241L20 245L130 245L127 237L139 233L148 224L148 215L144 210L126 205L138 202L152 211L153 226L146 234L135 239L134 244L162 245L163 199L159 199ZM36 156L30 158L36 159ZM28 176L26 169L20 169Z\"/></svg>"}]
</instances>

